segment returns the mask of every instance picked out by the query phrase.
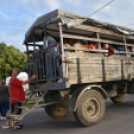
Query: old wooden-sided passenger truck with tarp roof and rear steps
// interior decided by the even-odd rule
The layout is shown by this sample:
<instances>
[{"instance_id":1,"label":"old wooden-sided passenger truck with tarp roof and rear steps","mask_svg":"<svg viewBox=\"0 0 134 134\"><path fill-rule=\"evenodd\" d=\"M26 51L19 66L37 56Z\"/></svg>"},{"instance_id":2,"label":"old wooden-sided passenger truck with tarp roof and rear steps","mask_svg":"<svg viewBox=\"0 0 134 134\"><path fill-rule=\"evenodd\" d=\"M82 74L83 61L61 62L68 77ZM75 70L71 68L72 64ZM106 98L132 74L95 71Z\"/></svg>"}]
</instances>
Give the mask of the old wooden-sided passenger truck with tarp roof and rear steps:
<instances>
[{"instance_id":1,"label":"old wooden-sided passenger truck with tarp roof and rear steps","mask_svg":"<svg viewBox=\"0 0 134 134\"><path fill-rule=\"evenodd\" d=\"M75 47L71 42L87 41L97 49ZM65 45L66 41L68 44ZM105 57L102 44L123 47ZM134 93L134 30L84 16L55 10L39 17L25 34L29 78L32 92L20 116L9 115L12 121L22 120L36 107L59 118L70 111L84 126L100 122L105 114L105 100L123 101L125 94ZM130 51L128 51L130 50ZM38 51L38 54L35 52ZM38 92L39 99L30 109L25 105ZM43 100L42 104L39 104Z\"/></svg>"}]
</instances>

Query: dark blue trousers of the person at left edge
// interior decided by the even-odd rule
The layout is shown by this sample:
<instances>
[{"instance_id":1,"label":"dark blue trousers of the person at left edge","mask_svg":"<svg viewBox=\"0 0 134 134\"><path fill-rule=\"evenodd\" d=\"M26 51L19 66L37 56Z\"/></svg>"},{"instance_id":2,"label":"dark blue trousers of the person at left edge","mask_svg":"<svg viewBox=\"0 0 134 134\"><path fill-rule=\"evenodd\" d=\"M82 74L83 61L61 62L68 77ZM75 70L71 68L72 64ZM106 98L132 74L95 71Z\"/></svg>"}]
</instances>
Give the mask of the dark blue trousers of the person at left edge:
<instances>
[{"instance_id":1,"label":"dark blue trousers of the person at left edge","mask_svg":"<svg viewBox=\"0 0 134 134\"><path fill-rule=\"evenodd\" d=\"M1 116L6 117L6 113L9 110L9 102L0 103Z\"/></svg>"}]
</instances>

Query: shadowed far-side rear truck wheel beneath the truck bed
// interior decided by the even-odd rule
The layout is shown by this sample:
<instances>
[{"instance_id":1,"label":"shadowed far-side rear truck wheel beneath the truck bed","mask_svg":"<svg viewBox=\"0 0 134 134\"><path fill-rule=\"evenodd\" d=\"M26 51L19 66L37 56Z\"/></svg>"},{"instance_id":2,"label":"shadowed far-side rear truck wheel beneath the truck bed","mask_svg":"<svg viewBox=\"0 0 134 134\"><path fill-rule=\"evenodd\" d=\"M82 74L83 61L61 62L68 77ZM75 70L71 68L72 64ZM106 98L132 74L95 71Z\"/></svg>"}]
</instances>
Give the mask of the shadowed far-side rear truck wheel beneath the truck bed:
<instances>
[{"instance_id":1,"label":"shadowed far-side rear truck wheel beneath the truck bed","mask_svg":"<svg viewBox=\"0 0 134 134\"><path fill-rule=\"evenodd\" d=\"M45 108L46 113L53 118L61 118L69 113L68 108L64 108L62 104L54 104Z\"/></svg>"}]
</instances>

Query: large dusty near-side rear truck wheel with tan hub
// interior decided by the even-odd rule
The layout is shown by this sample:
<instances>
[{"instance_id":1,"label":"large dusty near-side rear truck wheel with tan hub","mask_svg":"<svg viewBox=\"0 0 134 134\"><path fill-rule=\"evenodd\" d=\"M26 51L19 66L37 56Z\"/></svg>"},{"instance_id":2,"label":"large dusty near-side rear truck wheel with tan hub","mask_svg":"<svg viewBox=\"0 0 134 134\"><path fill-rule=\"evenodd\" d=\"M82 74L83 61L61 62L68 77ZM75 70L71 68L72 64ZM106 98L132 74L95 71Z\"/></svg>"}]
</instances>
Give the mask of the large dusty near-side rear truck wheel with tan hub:
<instances>
[{"instance_id":1,"label":"large dusty near-side rear truck wheel with tan hub","mask_svg":"<svg viewBox=\"0 0 134 134\"><path fill-rule=\"evenodd\" d=\"M104 114L104 99L98 91L93 89L83 93L74 112L76 120L86 127L100 122Z\"/></svg>"}]
</instances>

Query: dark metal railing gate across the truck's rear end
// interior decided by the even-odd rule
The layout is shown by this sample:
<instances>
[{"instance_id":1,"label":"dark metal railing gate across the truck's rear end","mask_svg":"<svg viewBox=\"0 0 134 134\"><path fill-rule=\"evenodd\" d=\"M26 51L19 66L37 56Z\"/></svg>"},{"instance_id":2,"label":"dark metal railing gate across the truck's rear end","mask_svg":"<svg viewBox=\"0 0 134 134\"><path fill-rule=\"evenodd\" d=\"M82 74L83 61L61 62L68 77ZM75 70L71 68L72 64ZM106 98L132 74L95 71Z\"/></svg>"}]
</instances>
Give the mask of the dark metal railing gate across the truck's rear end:
<instances>
[{"instance_id":1,"label":"dark metal railing gate across the truck's rear end","mask_svg":"<svg viewBox=\"0 0 134 134\"><path fill-rule=\"evenodd\" d=\"M29 63L28 75L30 78L35 74L37 75L37 79L33 80L31 83L44 83L47 81L56 82L60 77L62 77L60 75L60 69L62 68L60 68L61 56L58 45L49 46L44 50L35 49L34 46L32 47L34 51L27 50L27 54L32 55L28 56L27 60Z\"/></svg>"}]
</instances>

